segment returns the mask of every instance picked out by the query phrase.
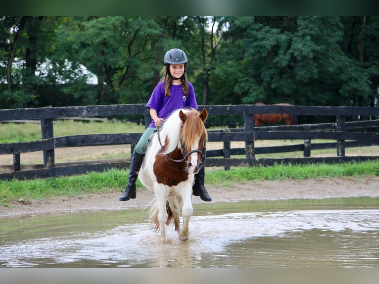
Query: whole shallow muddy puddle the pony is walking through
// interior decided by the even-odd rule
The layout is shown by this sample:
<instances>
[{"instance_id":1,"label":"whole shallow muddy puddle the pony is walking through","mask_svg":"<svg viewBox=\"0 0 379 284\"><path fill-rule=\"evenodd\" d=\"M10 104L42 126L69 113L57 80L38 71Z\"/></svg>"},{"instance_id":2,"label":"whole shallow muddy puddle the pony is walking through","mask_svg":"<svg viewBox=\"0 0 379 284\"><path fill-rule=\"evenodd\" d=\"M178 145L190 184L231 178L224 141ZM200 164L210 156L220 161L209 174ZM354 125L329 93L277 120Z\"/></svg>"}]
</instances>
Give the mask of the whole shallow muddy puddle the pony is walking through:
<instances>
[{"instance_id":1,"label":"whole shallow muddy puddle the pony is walking through","mask_svg":"<svg viewBox=\"0 0 379 284\"><path fill-rule=\"evenodd\" d=\"M142 210L1 219L0 267L379 267L379 198L201 203L160 244Z\"/></svg>"}]
</instances>

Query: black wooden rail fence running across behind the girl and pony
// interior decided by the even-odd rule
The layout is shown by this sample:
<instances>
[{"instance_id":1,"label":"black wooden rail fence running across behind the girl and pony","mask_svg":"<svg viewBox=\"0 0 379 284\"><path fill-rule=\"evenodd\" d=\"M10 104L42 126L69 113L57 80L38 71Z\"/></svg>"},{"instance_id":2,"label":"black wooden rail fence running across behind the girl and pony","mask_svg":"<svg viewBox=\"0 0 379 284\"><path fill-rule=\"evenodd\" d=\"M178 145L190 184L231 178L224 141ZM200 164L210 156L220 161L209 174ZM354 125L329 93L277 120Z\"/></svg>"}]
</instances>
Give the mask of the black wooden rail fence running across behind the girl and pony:
<instances>
[{"instance_id":1,"label":"black wooden rail fence running across behind the girl and pony","mask_svg":"<svg viewBox=\"0 0 379 284\"><path fill-rule=\"evenodd\" d=\"M379 133L367 132L369 128L378 128L379 120L346 122L346 117L379 117L379 107L328 107L328 106L283 106L283 105L207 105L209 116L243 114L244 127L208 131L209 142L223 142L223 148L207 150L207 167L230 167L273 165L274 163L338 163L363 160L378 160L378 153L372 156L346 156L346 147L358 147L379 144ZM332 116L335 123L275 126L254 128L254 113L289 113L297 115ZM0 154L13 154L12 169L0 173L0 180L50 178L85 174L91 171L104 171L109 168L129 167L129 159L100 160L72 163L55 163L54 149L59 147L99 146L130 144L131 150L138 142L140 133L92 134L54 137L53 120L73 117L108 117L144 114L145 121L150 120L144 104L97 105L72 107L43 107L0 110L0 122L20 120L40 120L42 139L31 142L0 144ZM355 129L366 129L356 132ZM256 140L304 140L304 143L277 147L255 147ZM315 139L335 140L335 143L312 144ZM243 141L244 148L231 148L231 142ZM335 157L311 157L311 150L335 147ZM44 165L40 169L21 170L21 154L43 151ZM302 158L256 159L256 154L303 151ZM232 156L244 155L244 158Z\"/></svg>"}]
</instances>

